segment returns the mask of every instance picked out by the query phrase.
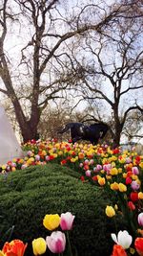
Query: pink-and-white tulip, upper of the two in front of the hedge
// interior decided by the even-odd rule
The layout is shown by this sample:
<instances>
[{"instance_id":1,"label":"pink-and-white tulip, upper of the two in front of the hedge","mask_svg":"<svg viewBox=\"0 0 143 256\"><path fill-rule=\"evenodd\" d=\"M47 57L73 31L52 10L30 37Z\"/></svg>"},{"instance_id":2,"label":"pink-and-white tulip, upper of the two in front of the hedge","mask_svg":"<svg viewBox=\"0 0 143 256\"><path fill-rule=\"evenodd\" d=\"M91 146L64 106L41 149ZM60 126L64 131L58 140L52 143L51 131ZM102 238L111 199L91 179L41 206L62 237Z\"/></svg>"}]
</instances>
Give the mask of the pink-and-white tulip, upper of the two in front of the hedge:
<instances>
[{"instance_id":1,"label":"pink-and-white tulip, upper of the two in front of the hedge","mask_svg":"<svg viewBox=\"0 0 143 256\"><path fill-rule=\"evenodd\" d=\"M71 230L74 218L75 216L70 212L61 214L60 226L62 230Z\"/></svg>"}]
</instances>

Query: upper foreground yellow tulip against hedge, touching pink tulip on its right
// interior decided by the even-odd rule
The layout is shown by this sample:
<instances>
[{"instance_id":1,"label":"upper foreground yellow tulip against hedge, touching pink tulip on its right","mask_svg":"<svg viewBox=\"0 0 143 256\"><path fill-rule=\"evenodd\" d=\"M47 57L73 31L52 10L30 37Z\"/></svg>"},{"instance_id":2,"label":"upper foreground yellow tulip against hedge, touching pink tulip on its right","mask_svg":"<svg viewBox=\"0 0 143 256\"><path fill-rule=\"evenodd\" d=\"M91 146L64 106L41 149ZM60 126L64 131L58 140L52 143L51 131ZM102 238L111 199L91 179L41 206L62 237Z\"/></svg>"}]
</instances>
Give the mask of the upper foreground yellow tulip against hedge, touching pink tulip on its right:
<instances>
[{"instance_id":1,"label":"upper foreground yellow tulip against hedge, touching pink tulip on its right","mask_svg":"<svg viewBox=\"0 0 143 256\"><path fill-rule=\"evenodd\" d=\"M54 230L57 228L59 223L60 217L58 214L47 214L43 220L43 225L49 230Z\"/></svg>"}]
</instances>

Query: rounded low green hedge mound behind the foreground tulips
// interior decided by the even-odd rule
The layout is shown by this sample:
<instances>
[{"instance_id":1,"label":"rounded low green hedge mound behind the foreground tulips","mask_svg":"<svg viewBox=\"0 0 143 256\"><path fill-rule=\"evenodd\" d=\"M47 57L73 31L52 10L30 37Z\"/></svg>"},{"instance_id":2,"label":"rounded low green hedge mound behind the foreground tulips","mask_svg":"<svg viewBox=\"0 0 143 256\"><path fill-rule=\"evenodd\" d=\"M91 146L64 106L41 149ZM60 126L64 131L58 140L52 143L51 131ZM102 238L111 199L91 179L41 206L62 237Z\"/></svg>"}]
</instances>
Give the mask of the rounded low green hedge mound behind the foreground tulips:
<instances>
[{"instance_id":1,"label":"rounded low green hedge mound behind the foreground tulips","mask_svg":"<svg viewBox=\"0 0 143 256\"><path fill-rule=\"evenodd\" d=\"M46 214L71 211L75 215L70 233L79 256L111 255L112 220L105 216L103 190L82 183L79 174L59 165L33 166L0 176L0 245L10 235L31 244L50 234L43 226ZM7 233L6 233L7 232ZM31 246L26 255L31 254ZM51 254L49 254L51 255Z\"/></svg>"}]
</instances>

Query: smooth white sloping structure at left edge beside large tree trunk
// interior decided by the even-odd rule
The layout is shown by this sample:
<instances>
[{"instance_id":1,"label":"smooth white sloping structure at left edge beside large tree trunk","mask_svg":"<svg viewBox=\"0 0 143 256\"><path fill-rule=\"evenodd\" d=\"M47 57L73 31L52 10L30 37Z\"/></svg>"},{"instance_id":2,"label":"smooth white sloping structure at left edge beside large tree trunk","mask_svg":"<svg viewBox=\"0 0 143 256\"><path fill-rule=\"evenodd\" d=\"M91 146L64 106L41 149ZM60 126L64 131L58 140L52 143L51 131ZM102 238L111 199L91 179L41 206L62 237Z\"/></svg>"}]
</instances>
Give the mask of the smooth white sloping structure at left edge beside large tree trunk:
<instances>
[{"instance_id":1,"label":"smooth white sloping structure at left edge beside large tree trunk","mask_svg":"<svg viewBox=\"0 0 143 256\"><path fill-rule=\"evenodd\" d=\"M23 151L10 125L3 106L0 106L0 165L15 157L22 157Z\"/></svg>"}]
</instances>

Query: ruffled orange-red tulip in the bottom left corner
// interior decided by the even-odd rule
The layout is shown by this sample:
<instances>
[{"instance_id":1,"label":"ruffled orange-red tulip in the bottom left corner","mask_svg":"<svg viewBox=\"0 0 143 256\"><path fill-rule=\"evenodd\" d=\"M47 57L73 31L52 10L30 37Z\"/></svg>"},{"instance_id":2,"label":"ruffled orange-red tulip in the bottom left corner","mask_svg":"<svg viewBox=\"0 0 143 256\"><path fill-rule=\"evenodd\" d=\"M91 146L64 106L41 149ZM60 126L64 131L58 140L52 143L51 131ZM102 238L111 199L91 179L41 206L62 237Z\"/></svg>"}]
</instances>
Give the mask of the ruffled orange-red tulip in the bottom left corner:
<instances>
[{"instance_id":1,"label":"ruffled orange-red tulip in the bottom left corner","mask_svg":"<svg viewBox=\"0 0 143 256\"><path fill-rule=\"evenodd\" d=\"M6 242L4 244L2 252L6 256L23 256L27 245L21 240L12 240L10 243Z\"/></svg>"}]
</instances>

